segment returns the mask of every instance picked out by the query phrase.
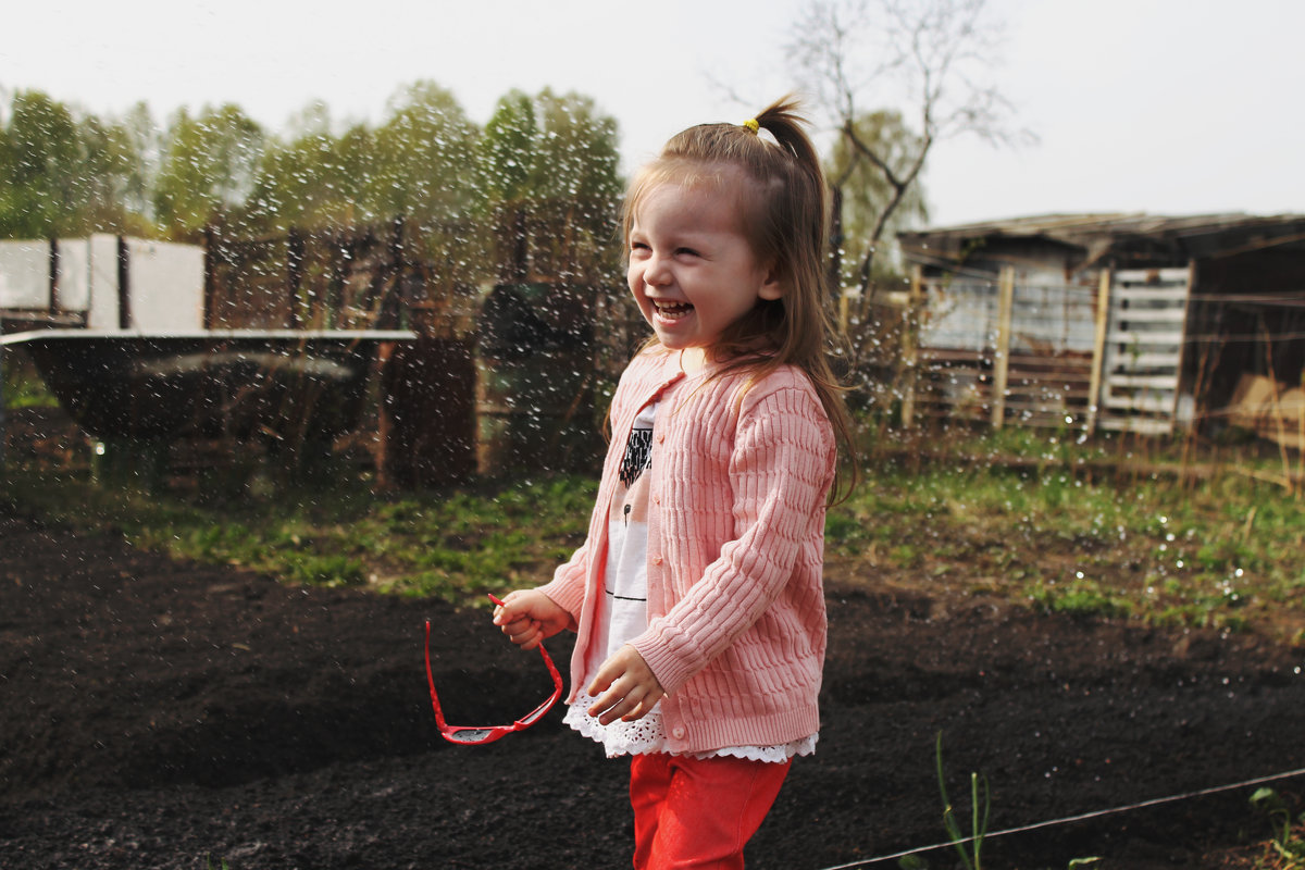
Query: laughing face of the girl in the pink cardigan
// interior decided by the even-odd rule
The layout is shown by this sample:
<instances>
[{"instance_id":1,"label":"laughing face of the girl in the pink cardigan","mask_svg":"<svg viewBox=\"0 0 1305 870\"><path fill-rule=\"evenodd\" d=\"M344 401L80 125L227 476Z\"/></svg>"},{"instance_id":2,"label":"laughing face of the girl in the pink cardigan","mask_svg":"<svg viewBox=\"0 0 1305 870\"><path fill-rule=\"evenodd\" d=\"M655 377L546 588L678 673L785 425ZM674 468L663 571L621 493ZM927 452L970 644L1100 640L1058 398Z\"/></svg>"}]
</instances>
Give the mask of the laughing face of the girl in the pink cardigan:
<instances>
[{"instance_id":1,"label":"laughing face of the girl in the pink cardigan","mask_svg":"<svg viewBox=\"0 0 1305 870\"><path fill-rule=\"evenodd\" d=\"M757 300L779 299L780 282L743 232L731 180L688 187L668 181L643 194L630 222L626 278L658 339L702 348Z\"/></svg>"}]
</instances>

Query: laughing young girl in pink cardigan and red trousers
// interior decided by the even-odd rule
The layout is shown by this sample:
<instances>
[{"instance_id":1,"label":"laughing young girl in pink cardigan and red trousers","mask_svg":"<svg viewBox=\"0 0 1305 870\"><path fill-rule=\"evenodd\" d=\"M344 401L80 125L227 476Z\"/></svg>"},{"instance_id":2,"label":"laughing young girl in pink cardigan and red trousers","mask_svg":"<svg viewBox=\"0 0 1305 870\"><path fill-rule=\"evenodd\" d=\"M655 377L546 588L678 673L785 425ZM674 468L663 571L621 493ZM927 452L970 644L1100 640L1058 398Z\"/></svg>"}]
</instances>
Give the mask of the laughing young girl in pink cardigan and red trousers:
<instances>
[{"instance_id":1,"label":"laughing young girl in pink cardigan and red trousers","mask_svg":"<svg viewBox=\"0 0 1305 870\"><path fill-rule=\"evenodd\" d=\"M577 633L565 721L630 755L641 869L743 867L820 729L848 424L825 356L825 181L795 108L684 130L634 177L628 279L654 337L612 399L585 544L495 610L523 650Z\"/></svg>"}]
</instances>

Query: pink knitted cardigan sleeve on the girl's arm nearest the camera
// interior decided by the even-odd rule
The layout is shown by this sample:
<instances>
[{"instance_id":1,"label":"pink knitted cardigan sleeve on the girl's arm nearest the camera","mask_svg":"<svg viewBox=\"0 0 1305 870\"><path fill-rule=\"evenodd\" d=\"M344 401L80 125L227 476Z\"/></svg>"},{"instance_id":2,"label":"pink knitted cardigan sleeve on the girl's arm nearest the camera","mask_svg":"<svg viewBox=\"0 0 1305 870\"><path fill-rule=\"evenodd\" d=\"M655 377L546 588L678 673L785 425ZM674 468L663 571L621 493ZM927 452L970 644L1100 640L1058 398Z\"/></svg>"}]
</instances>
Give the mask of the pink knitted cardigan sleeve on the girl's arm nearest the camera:
<instances>
[{"instance_id":1,"label":"pink knitted cardigan sleeve on the girl's arm nearest the camera","mask_svg":"<svg viewBox=\"0 0 1305 870\"><path fill-rule=\"evenodd\" d=\"M833 476L833 428L812 390L749 390L728 463L736 536L701 578L680 578L689 584L683 597L633 642L667 693L756 623L793 577L803 548L822 540ZM812 582L820 583L818 571Z\"/></svg>"}]
</instances>

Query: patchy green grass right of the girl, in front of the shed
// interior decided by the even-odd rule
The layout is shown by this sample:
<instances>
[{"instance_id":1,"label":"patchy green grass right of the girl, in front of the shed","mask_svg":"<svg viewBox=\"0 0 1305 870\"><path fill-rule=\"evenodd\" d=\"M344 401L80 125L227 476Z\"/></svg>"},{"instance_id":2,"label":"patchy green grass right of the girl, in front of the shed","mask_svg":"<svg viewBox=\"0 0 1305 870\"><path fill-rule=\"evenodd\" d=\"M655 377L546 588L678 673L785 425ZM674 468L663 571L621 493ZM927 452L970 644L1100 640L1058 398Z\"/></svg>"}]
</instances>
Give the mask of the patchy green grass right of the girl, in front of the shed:
<instances>
[{"instance_id":1,"label":"patchy green grass right of the girl, in front of the shed","mask_svg":"<svg viewBox=\"0 0 1305 870\"><path fill-rule=\"evenodd\" d=\"M1305 642L1305 501L1255 476L1265 460L1205 462L1193 481L1159 450L1065 442L1044 433L1039 446L1022 430L930 445L929 455L881 445L831 511L827 552L1048 612L1259 625Z\"/></svg>"}]
</instances>

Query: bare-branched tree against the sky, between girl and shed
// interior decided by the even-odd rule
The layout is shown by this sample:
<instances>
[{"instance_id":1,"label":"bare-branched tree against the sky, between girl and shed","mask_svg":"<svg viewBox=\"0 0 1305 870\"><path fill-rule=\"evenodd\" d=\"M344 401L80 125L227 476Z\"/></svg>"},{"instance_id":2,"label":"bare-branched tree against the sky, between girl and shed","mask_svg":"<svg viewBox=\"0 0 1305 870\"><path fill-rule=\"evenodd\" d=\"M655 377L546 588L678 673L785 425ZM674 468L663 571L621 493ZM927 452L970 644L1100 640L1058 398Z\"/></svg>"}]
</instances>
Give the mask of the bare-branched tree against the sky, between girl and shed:
<instances>
[{"instance_id":1,"label":"bare-branched tree against the sky, between girl and shed","mask_svg":"<svg viewBox=\"0 0 1305 870\"><path fill-rule=\"evenodd\" d=\"M790 61L837 130L837 147L846 155L829 179L835 240L842 233L846 185L864 167L882 179L877 187L885 194L848 288L853 322L867 322L874 304L876 253L894 214L919 184L934 143L964 133L994 145L1027 136L1013 130L1011 106L990 83L1001 27L985 18L985 1L812 0L787 46ZM907 136L865 136L864 121L872 115L867 103L874 108L900 104ZM842 274L839 258L835 244L831 291L840 290L833 280Z\"/></svg>"}]
</instances>

